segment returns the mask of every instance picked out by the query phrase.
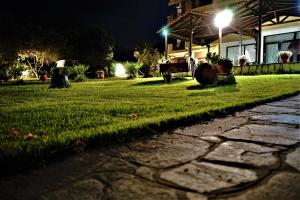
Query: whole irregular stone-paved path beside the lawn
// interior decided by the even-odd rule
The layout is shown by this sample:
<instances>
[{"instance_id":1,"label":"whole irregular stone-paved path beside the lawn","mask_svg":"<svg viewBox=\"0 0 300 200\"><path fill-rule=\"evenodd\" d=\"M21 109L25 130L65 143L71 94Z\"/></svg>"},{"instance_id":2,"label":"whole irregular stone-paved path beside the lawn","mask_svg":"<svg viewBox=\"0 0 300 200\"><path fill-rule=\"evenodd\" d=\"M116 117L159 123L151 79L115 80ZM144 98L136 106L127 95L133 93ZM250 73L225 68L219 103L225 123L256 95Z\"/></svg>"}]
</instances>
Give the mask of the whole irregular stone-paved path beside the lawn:
<instances>
[{"instance_id":1,"label":"whole irregular stone-paved path beside the lawn","mask_svg":"<svg viewBox=\"0 0 300 200\"><path fill-rule=\"evenodd\" d=\"M300 199L300 95L0 180L0 199Z\"/></svg>"}]
</instances>

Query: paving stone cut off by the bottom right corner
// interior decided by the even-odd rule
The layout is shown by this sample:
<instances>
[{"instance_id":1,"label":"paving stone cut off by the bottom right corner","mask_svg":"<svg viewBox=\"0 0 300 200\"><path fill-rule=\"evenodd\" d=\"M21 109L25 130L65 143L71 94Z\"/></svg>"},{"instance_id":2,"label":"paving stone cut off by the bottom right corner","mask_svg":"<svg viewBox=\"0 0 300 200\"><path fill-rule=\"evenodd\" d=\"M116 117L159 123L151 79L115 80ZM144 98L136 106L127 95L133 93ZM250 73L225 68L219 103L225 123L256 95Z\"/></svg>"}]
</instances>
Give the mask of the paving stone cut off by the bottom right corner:
<instances>
[{"instance_id":1,"label":"paving stone cut off by the bottom right corner","mask_svg":"<svg viewBox=\"0 0 300 200\"><path fill-rule=\"evenodd\" d=\"M251 188L230 200L299 200L300 199L300 174L281 172L271 177L262 185Z\"/></svg>"}]
</instances>

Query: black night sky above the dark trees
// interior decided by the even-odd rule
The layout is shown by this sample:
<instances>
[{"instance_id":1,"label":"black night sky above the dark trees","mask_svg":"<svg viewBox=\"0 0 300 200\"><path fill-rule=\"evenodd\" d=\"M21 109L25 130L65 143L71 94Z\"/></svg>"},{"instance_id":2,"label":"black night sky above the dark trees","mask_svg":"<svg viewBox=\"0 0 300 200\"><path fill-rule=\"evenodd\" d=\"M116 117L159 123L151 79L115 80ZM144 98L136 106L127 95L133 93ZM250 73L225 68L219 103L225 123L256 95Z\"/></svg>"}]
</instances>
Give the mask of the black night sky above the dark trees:
<instances>
[{"instance_id":1,"label":"black night sky above the dark trees","mask_svg":"<svg viewBox=\"0 0 300 200\"><path fill-rule=\"evenodd\" d=\"M167 0L8 0L0 11L21 23L99 25L117 44L135 47L159 38L168 6Z\"/></svg>"}]
</instances>

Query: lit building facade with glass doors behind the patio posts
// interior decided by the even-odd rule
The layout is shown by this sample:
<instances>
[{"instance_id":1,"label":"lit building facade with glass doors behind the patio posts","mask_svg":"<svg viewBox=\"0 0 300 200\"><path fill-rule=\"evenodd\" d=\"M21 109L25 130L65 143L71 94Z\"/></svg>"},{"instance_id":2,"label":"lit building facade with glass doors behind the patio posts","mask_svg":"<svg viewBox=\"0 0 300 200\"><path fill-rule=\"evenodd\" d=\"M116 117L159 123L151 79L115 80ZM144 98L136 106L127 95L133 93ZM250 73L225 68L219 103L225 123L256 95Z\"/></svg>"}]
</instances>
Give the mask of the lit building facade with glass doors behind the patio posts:
<instances>
[{"instance_id":1,"label":"lit building facade with glass doors behind the patio posts","mask_svg":"<svg viewBox=\"0 0 300 200\"><path fill-rule=\"evenodd\" d=\"M205 61L208 52L216 52L219 54L217 31L210 30L210 32L204 32L203 29L215 29L212 23L216 12L224 8L233 7L238 13L238 19L233 20L233 25L236 23L236 27L239 28L243 24L247 25L246 23L248 23L249 26L245 26L241 30L234 28L223 35L221 45L222 57L230 58L234 64L237 64L237 59L240 55L247 55L251 63L257 63L258 60L260 60L260 63L277 63L278 52L289 50L293 53L291 61L300 62L300 3L297 3L297 0L275 1L278 6L262 14L260 39L258 39L257 32L259 31L259 27L256 23L258 21L258 19L255 18L256 15L243 15L245 11L242 10L243 5L249 7L253 5L253 8L257 8L256 2L260 2L260 0L253 0L253 2L251 2L251 0L169 0L169 6L176 10L175 14L172 13L172 15L168 17L168 27L170 27L171 33L170 37L174 38L173 42L170 42L168 45L169 57L188 57L190 49L192 50L192 57L200 61ZM263 4L266 1L261 2ZM268 5L266 4L265 6ZM207 20L205 20L205 18L202 21L198 20L200 21L198 22L197 16L195 16L196 14L199 15L199 18L203 18L203 16L207 17ZM188 26L184 26L189 23L188 16L191 18L190 23L195 24L194 27L211 23L209 26L200 28L200 31L197 30L197 28L192 29L192 34L198 31L198 41L194 42L189 37L182 37L184 31L181 31L181 29L186 28L186 32L190 31L189 28L187 28ZM193 16L193 18L191 16ZM172 30L173 27L174 30ZM208 42L201 44L201 36L205 38L207 33L211 33L211 37L206 40ZM191 43L192 48L190 48ZM260 45L257 43L260 43ZM259 51L258 47L260 49Z\"/></svg>"}]
</instances>

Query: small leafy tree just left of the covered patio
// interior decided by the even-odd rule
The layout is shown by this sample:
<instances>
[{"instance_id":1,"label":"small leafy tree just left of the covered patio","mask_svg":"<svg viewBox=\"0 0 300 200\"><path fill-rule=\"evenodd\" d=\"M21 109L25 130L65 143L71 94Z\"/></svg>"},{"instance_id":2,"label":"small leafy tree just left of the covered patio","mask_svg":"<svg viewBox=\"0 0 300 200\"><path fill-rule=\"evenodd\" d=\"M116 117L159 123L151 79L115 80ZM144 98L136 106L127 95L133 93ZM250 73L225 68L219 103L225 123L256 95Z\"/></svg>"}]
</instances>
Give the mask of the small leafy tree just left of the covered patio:
<instances>
[{"instance_id":1,"label":"small leafy tree just left of the covered patio","mask_svg":"<svg viewBox=\"0 0 300 200\"><path fill-rule=\"evenodd\" d=\"M157 70L157 65L162 58L162 55L159 53L158 49L145 45L143 49L134 52L134 57L143 65L145 69L144 77L150 77L151 72Z\"/></svg>"}]
</instances>

